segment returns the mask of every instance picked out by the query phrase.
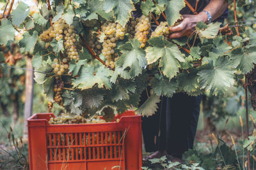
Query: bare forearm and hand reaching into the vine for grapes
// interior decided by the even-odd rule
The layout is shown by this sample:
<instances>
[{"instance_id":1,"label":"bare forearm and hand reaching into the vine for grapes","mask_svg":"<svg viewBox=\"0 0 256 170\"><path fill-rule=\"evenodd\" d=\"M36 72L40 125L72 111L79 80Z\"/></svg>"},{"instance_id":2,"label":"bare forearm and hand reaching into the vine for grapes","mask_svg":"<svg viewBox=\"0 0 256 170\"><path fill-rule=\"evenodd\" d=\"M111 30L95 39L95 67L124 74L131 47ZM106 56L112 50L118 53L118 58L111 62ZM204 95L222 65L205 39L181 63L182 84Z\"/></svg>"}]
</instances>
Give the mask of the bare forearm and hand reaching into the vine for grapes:
<instances>
[{"instance_id":1,"label":"bare forearm and hand reaching into the vine for grapes","mask_svg":"<svg viewBox=\"0 0 256 170\"><path fill-rule=\"evenodd\" d=\"M226 0L211 0L204 10L208 11L212 17L212 21L220 17L223 12L228 8ZM196 27L197 22L207 22L208 16L204 11L201 11L197 15L182 15L182 22L175 26L170 27L170 38L180 38L182 36L189 36Z\"/></svg>"}]
</instances>

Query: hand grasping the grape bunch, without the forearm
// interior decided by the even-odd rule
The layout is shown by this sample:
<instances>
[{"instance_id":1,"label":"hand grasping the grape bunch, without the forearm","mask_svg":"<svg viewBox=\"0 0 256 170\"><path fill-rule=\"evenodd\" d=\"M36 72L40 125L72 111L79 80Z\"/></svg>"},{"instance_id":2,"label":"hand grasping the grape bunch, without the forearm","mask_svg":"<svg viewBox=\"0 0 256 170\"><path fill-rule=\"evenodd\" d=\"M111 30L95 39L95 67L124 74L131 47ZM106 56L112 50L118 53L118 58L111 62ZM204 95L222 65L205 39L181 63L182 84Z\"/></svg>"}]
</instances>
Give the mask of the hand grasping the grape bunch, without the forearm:
<instances>
[{"instance_id":1,"label":"hand grasping the grape bunch, without the forearm","mask_svg":"<svg viewBox=\"0 0 256 170\"><path fill-rule=\"evenodd\" d=\"M195 31L197 22L207 22L208 16L206 13L201 12L198 15L182 15L182 22L174 27L169 27L170 38L180 38L182 36L189 36Z\"/></svg>"}]
</instances>

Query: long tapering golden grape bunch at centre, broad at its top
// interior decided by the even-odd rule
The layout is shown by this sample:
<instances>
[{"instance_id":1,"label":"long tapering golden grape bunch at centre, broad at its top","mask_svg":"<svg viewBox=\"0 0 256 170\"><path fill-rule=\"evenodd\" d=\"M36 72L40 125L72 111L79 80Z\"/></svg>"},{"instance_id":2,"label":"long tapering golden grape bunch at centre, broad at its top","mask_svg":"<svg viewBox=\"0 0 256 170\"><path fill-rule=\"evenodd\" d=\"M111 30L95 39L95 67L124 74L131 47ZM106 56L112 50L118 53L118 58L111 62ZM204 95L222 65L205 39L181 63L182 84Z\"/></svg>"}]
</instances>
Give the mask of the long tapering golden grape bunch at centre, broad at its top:
<instances>
[{"instance_id":1,"label":"long tapering golden grape bunch at centre, broad at its top","mask_svg":"<svg viewBox=\"0 0 256 170\"><path fill-rule=\"evenodd\" d=\"M115 52L116 41L118 39L124 39L124 35L127 32L127 25L122 27L120 24L113 22L105 22L101 26L102 32L106 35L102 44L102 54L106 58L106 65L114 68L115 61L118 53Z\"/></svg>"}]
</instances>

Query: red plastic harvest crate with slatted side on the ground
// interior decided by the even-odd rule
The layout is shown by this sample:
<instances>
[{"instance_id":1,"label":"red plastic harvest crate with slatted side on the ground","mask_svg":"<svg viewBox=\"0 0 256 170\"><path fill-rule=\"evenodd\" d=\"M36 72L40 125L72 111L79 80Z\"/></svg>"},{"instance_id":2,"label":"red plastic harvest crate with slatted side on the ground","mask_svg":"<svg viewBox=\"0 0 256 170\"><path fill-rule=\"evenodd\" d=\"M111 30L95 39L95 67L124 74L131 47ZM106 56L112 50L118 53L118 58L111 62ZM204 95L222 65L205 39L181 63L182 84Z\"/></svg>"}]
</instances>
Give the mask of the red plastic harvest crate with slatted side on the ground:
<instances>
[{"instance_id":1,"label":"red plastic harvest crate with slatted side on the ground","mask_svg":"<svg viewBox=\"0 0 256 170\"><path fill-rule=\"evenodd\" d=\"M50 116L28 118L31 170L141 169L141 116L134 111L102 124L51 125Z\"/></svg>"}]
</instances>

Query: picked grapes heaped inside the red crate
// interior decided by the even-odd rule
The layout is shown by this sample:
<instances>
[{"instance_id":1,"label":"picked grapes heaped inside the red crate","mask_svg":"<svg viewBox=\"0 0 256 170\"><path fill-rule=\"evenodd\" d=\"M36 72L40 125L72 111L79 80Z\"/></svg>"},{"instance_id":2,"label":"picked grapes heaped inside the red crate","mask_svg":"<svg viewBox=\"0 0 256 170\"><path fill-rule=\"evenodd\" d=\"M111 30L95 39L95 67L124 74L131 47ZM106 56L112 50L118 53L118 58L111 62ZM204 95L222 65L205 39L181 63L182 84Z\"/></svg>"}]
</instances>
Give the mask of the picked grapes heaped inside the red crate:
<instances>
[{"instance_id":1,"label":"picked grapes heaped inside the red crate","mask_svg":"<svg viewBox=\"0 0 256 170\"><path fill-rule=\"evenodd\" d=\"M60 117L51 117L49 124L86 124L86 118L83 118L79 115L61 113Z\"/></svg>"}]
</instances>

